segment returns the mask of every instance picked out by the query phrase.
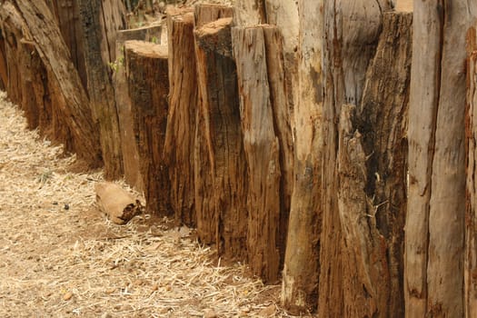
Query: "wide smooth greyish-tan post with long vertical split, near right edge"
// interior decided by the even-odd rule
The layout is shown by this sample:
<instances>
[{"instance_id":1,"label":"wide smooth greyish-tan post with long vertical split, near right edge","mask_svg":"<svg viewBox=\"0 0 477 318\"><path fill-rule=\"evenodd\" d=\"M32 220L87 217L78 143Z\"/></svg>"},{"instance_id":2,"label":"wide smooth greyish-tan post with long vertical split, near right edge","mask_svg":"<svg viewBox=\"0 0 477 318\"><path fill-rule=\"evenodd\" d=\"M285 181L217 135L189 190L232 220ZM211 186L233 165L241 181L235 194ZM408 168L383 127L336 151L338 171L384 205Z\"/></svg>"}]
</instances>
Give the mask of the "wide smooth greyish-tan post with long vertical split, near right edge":
<instances>
[{"instance_id":1,"label":"wide smooth greyish-tan post with long vertical split, near right edge","mask_svg":"<svg viewBox=\"0 0 477 318\"><path fill-rule=\"evenodd\" d=\"M406 315L463 316L465 31L477 4L414 2Z\"/></svg>"}]
</instances>

